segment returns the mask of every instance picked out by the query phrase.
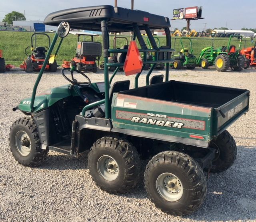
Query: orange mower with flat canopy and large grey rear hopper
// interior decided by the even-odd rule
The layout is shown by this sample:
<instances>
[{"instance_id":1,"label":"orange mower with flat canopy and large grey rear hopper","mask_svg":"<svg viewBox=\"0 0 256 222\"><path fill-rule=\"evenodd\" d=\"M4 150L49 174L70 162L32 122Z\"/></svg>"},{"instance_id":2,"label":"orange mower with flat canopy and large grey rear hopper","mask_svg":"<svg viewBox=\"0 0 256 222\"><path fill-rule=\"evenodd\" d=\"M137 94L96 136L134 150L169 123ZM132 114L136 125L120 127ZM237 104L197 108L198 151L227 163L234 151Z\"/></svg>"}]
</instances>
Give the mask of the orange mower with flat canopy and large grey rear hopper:
<instances>
[{"instance_id":1,"label":"orange mower with flat canopy and large grey rear hopper","mask_svg":"<svg viewBox=\"0 0 256 222\"><path fill-rule=\"evenodd\" d=\"M63 61L62 67L69 68L70 64L78 71L92 71L97 72L99 60L101 56L101 43L93 42L93 37L98 36L96 34L88 32L69 32L70 34L78 36L78 42L76 47L76 55L71 61ZM79 41L80 36L83 36L83 41ZM91 37L91 42L84 41L85 36ZM98 61L98 65L97 65Z\"/></svg>"}]
</instances>

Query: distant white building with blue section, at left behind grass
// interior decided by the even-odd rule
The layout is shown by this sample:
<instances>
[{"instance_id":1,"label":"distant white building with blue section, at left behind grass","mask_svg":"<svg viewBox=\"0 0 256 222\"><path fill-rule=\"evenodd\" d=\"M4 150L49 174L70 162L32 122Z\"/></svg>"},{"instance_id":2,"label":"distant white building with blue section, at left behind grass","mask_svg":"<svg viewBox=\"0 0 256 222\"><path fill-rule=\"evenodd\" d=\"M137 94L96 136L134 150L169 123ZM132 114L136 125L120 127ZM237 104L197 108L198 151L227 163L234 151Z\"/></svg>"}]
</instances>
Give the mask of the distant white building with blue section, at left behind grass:
<instances>
[{"instance_id":1,"label":"distant white building with blue section, at left behind grass","mask_svg":"<svg viewBox=\"0 0 256 222\"><path fill-rule=\"evenodd\" d=\"M13 26L19 26L27 31L35 32L50 32L56 31L58 27L48 26L43 24L43 21L38 20L26 20L26 21L13 21Z\"/></svg>"}]
</instances>

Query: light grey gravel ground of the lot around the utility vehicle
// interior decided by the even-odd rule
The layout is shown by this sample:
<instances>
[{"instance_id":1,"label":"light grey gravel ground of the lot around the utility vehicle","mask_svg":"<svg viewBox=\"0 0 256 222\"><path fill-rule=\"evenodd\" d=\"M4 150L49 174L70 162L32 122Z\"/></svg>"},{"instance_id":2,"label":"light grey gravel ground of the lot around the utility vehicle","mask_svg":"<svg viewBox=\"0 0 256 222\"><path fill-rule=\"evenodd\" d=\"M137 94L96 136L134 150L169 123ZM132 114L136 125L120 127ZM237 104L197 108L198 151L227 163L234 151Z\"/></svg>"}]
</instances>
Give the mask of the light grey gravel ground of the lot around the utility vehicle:
<instances>
[{"instance_id":1,"label":"light grey gravel ground of the lot around the utility vehicle","mask_svg":"<svg viewBox=\"0 0 256 222\"><path fill-rule=\"evenodd\" d=\"M103 71L88 76L92 81L102 81ZM30 97L36 77L18 69L0 74L0 221L256 221L255 69L240 73L170 70L170 79L250 90L250 111L228 128L238 146L236 162L226 172L210 175L204 204L183 217L158 210L148 200L142 178L127 194L111 195L100 190L89 175L87 153L76 158L50 151L38 168L19 165L10 152L8 133L10 125L23 114L11 110L21 99ZM134 76L118 73L115 79L132 79L134 85ZM66 83L60 70L47 73L38 91Z\"/></svg>"}]
</instances>

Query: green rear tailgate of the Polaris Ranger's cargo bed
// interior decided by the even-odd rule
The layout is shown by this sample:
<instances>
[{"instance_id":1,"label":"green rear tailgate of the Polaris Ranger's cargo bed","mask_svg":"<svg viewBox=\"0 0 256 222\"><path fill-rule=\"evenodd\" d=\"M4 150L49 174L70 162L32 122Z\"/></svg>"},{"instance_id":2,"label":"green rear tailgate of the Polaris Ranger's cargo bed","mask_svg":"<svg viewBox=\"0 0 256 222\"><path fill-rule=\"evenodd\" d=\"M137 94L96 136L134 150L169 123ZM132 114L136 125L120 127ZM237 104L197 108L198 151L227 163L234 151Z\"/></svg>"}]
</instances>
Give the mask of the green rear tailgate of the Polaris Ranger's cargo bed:
<instances>
[{"instance_id":1,"label":"green rear tailgate of the Polaris Ranger's cargo bed","mask_svg":"<svg viewBox=\"0 0 256 222\"><path fill-rule=\"evenodd\" d=\"M217 111L217 134L222 133L236 119L249 109L249 91L245 91L238 97L218 107Z\"/></svg>"}]
</instances>

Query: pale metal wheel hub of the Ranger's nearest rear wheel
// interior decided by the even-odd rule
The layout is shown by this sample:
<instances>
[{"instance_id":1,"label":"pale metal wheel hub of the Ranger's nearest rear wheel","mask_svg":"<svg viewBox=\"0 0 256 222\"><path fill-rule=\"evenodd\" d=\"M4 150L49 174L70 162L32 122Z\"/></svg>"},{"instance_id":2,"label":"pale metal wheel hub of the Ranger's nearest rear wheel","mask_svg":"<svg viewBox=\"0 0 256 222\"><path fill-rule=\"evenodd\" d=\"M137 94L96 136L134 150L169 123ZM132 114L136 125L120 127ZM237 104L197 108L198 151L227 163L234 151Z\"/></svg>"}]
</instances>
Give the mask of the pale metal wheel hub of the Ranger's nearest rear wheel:
<instances>
[{"instance_id":1,"label":"pale metal wheel hub of the Ranger's nearest rear wheel","mask_svg":"<svg viewBox=\"0 0 256 222\"><path fill-rule=\"evenodd\" d=\"M162 198L171 202L179 200L183 194L183 186L180 179L168 172L158 176L156 188Z\"/></svg>"}]
</instances>

